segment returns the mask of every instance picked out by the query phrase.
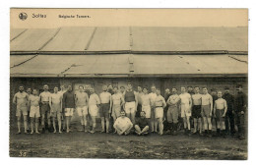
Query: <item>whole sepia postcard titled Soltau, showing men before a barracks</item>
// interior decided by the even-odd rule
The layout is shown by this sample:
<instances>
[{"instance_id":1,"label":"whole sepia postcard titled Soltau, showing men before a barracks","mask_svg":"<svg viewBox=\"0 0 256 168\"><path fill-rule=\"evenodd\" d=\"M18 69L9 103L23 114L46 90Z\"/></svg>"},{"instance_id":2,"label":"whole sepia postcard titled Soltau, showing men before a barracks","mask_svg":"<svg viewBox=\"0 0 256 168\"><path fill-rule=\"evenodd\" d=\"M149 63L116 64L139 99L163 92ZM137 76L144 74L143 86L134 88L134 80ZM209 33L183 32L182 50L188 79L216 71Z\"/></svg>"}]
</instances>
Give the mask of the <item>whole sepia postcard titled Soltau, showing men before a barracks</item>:
<instances>
[{"instance_id":1,"label":"whole sepia postcard titled Soltau, showing men before a barracks","mask_svg":"<svg viewBox=\"0 0 256 168\"><path fill-rule=\"evenodd\" d=\"M10 157L248 159L248 9L10 9Z\"/></svg>"}]
</instances>

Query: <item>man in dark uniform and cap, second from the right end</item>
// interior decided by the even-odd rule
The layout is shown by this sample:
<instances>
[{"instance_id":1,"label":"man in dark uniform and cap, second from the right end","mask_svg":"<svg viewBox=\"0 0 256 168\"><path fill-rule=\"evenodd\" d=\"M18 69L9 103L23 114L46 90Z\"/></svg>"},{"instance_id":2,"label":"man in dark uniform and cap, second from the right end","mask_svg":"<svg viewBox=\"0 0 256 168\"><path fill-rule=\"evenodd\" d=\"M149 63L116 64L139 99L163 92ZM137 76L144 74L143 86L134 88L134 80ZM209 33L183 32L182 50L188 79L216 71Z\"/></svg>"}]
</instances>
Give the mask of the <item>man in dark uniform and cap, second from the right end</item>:
<instances>
[{"instance_id":1,"label":"man in dark uniform and cap, second from the right end","mask_svg":"<svg viewBox=\"0 0 256 168\"><path fill-rule=\"evenodd\" d=\"M226 135L229 134L229 123L230 123L230 134L231 136L234 136L235 130L234 130L234 115L233 115L233 103L234 103L234 97L232 94L229 93L229 87L225 86L224 87L224 96L223 98L226 101L227 105L227 111L225 114L225 133Z\"/></svg>"}]
</instances>

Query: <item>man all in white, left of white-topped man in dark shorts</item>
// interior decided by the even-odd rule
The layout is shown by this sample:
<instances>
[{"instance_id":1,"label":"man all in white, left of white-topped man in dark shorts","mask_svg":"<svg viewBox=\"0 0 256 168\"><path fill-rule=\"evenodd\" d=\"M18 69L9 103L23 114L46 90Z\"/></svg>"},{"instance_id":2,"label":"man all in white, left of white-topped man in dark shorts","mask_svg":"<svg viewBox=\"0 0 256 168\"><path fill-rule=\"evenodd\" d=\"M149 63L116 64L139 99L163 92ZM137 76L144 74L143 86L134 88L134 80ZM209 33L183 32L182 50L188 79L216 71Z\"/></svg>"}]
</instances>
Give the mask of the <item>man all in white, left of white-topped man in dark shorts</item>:
<instances>
[{"instance_id":1,"label":"man all in white, left of white-topped man in dark shorts","mask_svg":"<svg viewBox=\"0 0 256 168\"><path fill-rule=\"evenodd\" d=\"M98 113L98 106L100 104L100 100L98 95L95 93L95 88L91 88L90 93L91 95L89 98L89 113L93 121L93 129L90 133L94 134L96 133L96 116Z\"/></svg>"}]
</instances>

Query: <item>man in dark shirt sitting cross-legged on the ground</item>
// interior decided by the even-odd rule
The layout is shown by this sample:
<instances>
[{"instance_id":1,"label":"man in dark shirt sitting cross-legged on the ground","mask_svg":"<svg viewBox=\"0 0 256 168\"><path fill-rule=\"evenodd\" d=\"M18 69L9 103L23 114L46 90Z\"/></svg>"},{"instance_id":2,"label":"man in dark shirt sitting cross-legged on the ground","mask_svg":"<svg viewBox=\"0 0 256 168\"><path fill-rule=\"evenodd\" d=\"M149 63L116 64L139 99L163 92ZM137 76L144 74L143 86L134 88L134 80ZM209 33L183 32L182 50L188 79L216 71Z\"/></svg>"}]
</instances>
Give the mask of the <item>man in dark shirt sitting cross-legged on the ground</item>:
<instances>
[{"instance_id":1,"label":"man in dark shirt sitting cross-legged on the ground","mask_svg":"<svg viewBox=\"0 0 256 168\"><path fill-rule=\"evenodd\" d=\"M142 111L140 113L141 117L137 119L136 123L135 123L135 133L138 135L138 136L141 136L141 135L148 135L149 133L149 129L150 129L150 126L149 126L149 120L146 118L146 113L145 111Z\"/></svg>"}]
</instances>

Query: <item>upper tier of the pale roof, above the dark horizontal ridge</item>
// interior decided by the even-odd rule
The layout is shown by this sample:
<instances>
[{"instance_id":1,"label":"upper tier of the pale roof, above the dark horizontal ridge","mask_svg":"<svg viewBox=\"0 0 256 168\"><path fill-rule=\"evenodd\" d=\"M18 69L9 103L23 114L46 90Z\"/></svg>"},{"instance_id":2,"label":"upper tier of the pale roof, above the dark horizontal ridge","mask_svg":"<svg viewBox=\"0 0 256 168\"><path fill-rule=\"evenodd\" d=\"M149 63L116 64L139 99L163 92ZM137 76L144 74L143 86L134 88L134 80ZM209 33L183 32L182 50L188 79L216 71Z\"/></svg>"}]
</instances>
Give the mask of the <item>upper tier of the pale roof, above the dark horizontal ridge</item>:
<instances>
[{"instance_id":1,"label":"upper tier of the pale roof, above the dark horizontal ridge","mask_svg":"<svg viewBox=\"0 0 256 168\"><path fill-rule=\"evenodd\" d=\"M22 29L11 29L11 39ZM56 33L57 32L57 33ZM55 36L54 36L55 35ZM46 44L46 45L45 45ZM248 51L248 28L28 29L11 51Z\"/></svg>"}]
</instances>

